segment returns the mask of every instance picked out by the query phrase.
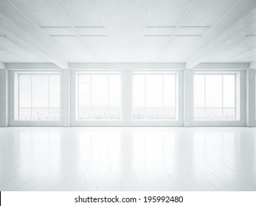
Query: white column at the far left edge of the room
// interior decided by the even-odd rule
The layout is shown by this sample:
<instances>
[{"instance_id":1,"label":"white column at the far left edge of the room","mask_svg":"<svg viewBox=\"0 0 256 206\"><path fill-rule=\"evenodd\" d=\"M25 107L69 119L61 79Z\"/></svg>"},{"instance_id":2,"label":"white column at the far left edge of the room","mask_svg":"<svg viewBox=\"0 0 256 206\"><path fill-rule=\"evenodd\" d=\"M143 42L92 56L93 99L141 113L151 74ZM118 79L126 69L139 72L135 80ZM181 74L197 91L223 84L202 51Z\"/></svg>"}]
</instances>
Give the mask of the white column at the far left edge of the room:
<instances>
[{"instance_id":1,"label":"white column at the far left edge of the room","mask_svg":"<svg viewBox=\"0 0 256 206\"><path fill-rule=\"evenodd\" d=\"M8 71L0 68L0 127L8 126Z\"/></svg>"}]
</instances>

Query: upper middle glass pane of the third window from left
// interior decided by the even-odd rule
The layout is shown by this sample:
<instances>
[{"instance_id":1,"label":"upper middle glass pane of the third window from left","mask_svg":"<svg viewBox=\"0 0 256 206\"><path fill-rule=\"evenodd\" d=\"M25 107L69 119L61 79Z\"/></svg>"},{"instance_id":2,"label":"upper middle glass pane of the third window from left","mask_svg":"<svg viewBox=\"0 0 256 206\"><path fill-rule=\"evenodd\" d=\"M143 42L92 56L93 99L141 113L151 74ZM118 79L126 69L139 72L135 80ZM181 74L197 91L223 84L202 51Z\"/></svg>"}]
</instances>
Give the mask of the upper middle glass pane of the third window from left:
<instances>
[{"instance_id":1,"label":"upper middle glass pane of the third window from left","mask_svg":"<svg viewBox=\"0 0 256 206\"><path fill-rule=\"evenodd\" d=\"M146 75L146 107L162 107L162 75Z\"/></svg>"}]
</instances>

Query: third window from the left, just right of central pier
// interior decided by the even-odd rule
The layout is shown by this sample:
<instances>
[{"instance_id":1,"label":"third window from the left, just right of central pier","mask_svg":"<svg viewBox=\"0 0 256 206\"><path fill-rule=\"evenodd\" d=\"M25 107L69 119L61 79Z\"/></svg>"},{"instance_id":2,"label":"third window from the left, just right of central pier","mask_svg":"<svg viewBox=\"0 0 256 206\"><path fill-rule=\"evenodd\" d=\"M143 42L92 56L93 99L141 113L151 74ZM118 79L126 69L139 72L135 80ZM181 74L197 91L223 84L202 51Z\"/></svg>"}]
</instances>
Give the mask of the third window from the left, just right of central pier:
<instances>
[{"instance_id":1,"label":"third window from the left, just right of central pier","mask_svg":"<svg viewBox=\"0 0 256 206\"><path fill-rule=\"evenodd\" d=\"M134 74L133 119L177 120L176 74Z\"/></svg>"}]
</instances>

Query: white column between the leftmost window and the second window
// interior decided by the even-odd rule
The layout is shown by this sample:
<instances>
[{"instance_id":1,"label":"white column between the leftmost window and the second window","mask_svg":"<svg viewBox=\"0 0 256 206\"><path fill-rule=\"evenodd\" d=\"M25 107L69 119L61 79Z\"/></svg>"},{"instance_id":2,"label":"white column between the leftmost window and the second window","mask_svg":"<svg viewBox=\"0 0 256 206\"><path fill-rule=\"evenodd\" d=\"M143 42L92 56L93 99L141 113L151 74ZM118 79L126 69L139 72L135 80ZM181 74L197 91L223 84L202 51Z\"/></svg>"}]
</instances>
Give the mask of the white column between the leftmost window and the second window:
<instances>
[{"instance_id":1,"label":"white column between the leftmost window and the second window","mask_svg":"<svg viewBox=\"0 0 256 206\"><path fill-rule=\"evenodd\" d=\"M63 127L70 127L70 69L63 69L62 73Z\"/></svg>"}]
</instances>

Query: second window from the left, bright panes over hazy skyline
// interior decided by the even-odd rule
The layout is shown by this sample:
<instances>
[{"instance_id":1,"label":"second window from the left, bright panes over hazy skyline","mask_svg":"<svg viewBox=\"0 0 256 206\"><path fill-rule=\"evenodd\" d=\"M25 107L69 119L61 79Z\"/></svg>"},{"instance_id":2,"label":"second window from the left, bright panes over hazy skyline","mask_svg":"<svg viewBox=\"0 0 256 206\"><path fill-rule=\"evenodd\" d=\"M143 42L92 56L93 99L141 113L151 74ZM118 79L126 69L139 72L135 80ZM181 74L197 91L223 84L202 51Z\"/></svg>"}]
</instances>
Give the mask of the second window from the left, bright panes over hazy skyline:
<instances>
[{"instance_id":1,"label":"second window from the left, bright panes over hazy skyline","mask_svg":"<svg viewBox=\"0 0 256 206\"><path fill-rule=\"evenodd\" d=\"M120 74L77 74L77 120L121 119Z\"/></svg>"}]
</instances>

